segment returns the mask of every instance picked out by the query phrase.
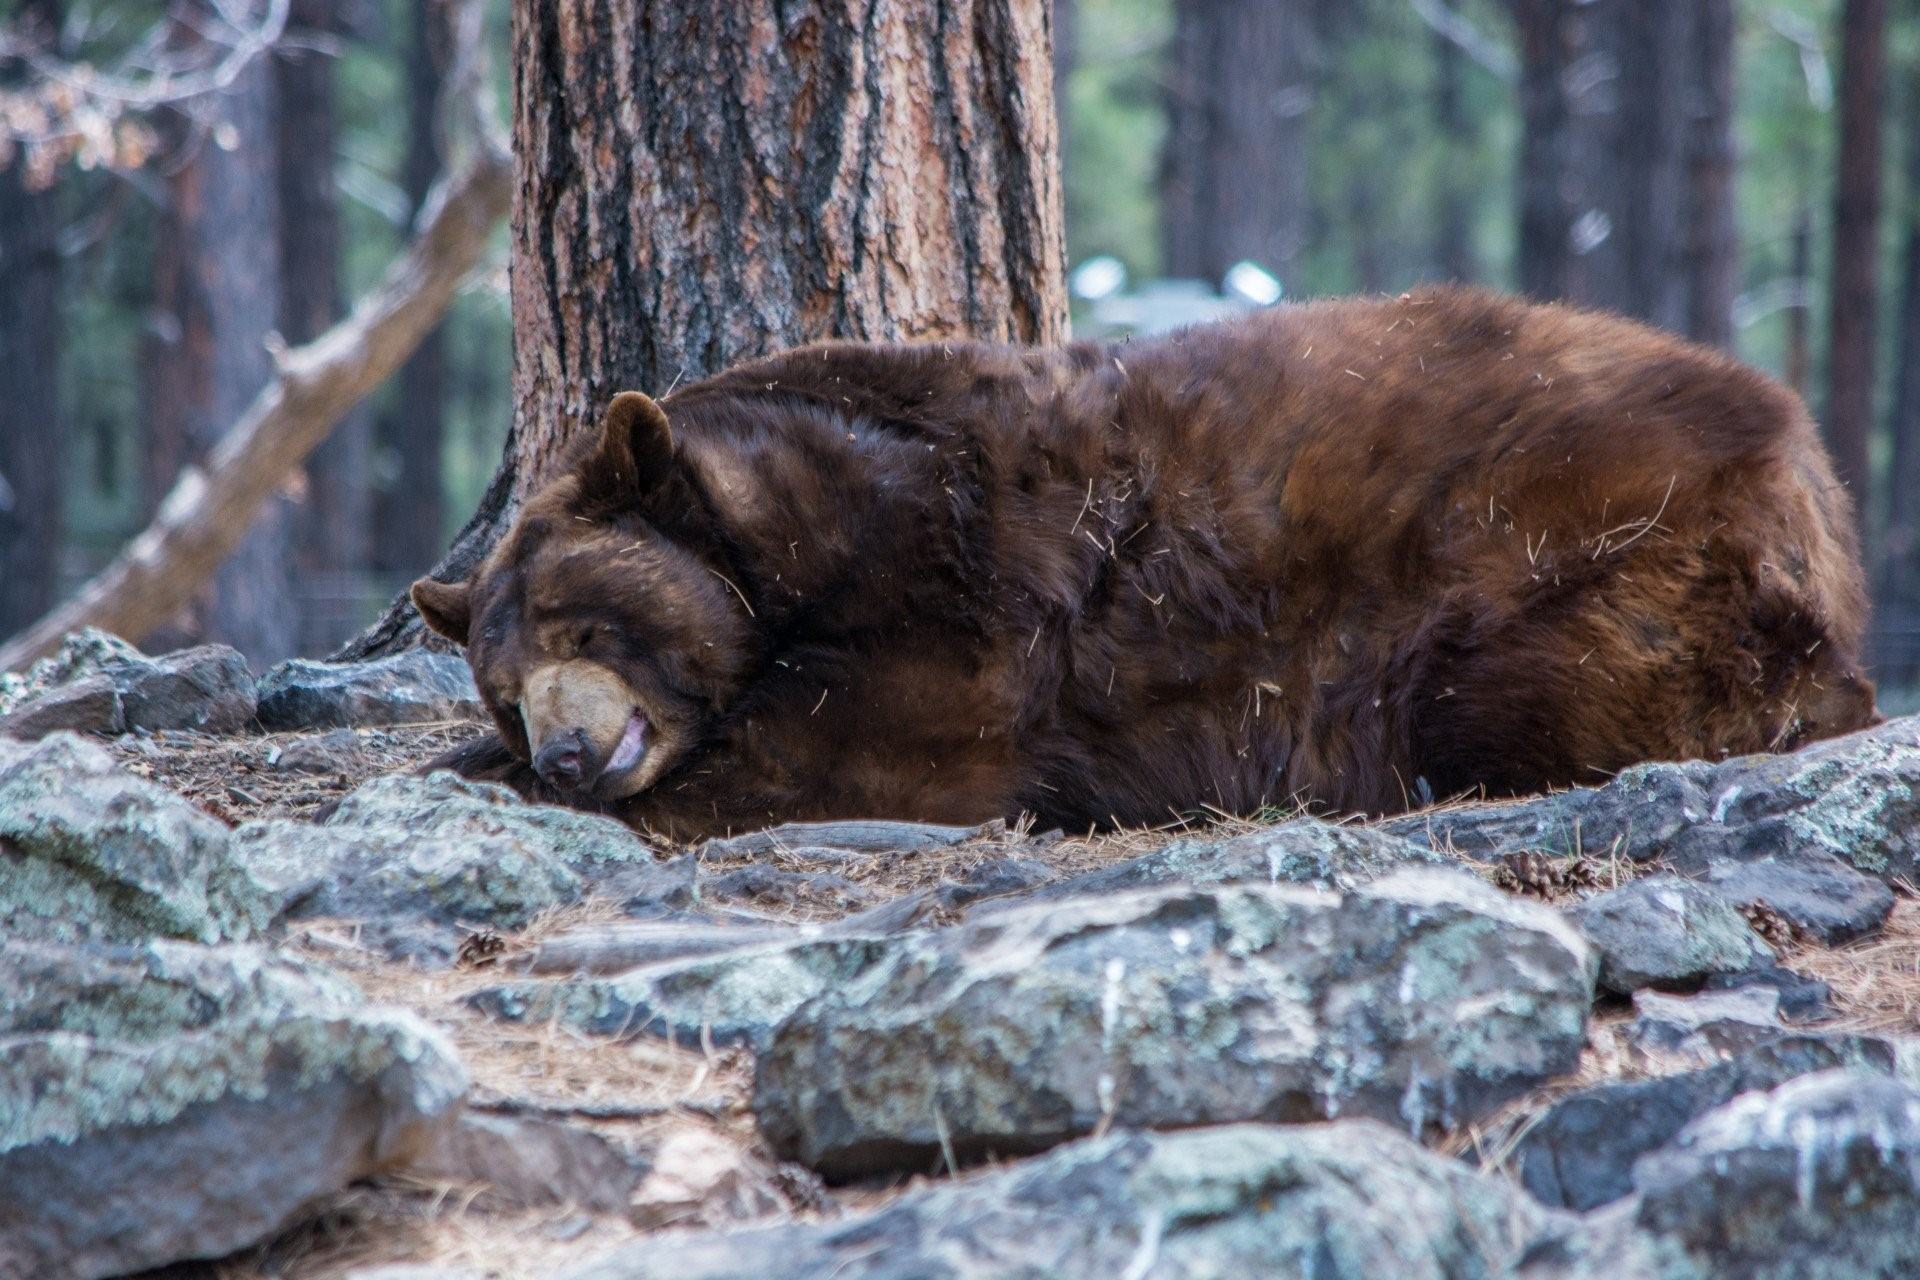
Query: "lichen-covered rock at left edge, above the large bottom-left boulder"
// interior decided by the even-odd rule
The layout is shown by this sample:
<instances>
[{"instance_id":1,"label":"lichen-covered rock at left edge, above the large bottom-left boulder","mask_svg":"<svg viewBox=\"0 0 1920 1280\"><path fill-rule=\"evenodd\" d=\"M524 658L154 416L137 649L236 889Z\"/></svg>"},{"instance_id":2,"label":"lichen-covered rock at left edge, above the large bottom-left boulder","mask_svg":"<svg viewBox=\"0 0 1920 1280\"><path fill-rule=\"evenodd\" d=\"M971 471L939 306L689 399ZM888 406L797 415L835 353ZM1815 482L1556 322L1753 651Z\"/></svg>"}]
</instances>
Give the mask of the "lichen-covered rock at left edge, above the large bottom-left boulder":
<instances>
[{"instance_id":1,"label":"lichen-covered rock at left edge, above the large bottom-left boulder","mask_svg":"<svg viewBox=\"0 0 1920 1280\"><path fill-rule=\"evenodd\" d=\"M248 938L275 894L227 827L56 733L0 756L0 929L12 938Z\"/></svg>"}]
</instances>

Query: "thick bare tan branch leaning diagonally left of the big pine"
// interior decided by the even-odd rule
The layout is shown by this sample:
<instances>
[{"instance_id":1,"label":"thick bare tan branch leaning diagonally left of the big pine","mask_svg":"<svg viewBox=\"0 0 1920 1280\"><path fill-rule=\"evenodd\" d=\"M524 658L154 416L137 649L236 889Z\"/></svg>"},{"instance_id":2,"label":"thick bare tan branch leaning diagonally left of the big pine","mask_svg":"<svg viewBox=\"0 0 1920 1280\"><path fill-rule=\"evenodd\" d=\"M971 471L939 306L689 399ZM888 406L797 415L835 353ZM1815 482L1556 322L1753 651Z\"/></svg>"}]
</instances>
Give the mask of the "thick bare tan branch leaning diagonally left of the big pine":
<instances>
[{"instance_id":1,"label":"thick bare tan branch leaning diagonally left of the big pine","mask_svg":"<svg viewBox=\"0 0 1920 1280\"><path fill-rule=\"evenodd\" d=\"M275 376L215 445L180 472L154 522L81 591L0 647L0 672L52 652L77 628L140 641L173 618L240 545L261 505L355 403L432 332L507 215L513 163L495 132L444 178L380 284L313 342L275 355Z\"/></svg>"}]
</instances>

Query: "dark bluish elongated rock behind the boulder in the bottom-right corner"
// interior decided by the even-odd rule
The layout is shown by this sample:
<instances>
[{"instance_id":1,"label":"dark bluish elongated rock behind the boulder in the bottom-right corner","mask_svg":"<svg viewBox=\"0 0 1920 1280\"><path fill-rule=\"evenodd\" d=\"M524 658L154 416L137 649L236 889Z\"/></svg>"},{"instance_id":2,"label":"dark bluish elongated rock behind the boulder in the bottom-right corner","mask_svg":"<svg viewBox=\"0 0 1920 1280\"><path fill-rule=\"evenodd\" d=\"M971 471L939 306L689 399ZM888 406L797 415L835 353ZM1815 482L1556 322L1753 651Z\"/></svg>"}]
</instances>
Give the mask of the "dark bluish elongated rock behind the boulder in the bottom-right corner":
<instances>
[{"instance_id":1,"label":"dark bluish elongated rock behind the boulder in the bottom-right corner","mask_svg":"<svg viewBox=\"0 0 1920 1280\"><path fill-rule=\"evenodd\" d=\"M1634 1161L1736 1094L1851 1067L1891 1075L1893 1048L1872 1036L1788 1036L1701 1071L1597 1084L1569 1094L1521 1126L1507 1157L1534 1199L1597 1209L1634 1190Z\"/></svg>"}]
</instances>

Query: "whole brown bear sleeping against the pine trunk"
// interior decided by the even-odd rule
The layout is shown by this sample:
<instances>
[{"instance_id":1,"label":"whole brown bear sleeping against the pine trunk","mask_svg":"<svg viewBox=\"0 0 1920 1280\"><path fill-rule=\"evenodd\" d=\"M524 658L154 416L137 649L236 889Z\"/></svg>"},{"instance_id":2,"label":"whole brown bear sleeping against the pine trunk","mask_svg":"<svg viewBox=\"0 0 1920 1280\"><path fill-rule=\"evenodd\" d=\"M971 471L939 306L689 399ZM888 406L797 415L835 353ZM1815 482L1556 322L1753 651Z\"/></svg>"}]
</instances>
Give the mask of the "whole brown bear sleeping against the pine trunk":
<instances>
[{"instance_id":1,"label":"whole brown bear sleeping against the pine trunk","mask_svg":"<svg viewBox=\"0 0 1920 1280\"><path fill-rule=\"evenodd\" d=\"M1476 290L622 393L413 599L499 725L457 764L680 839L1384 814L1876 720L1801 403Z\"/></svg>"}]
</instances>

